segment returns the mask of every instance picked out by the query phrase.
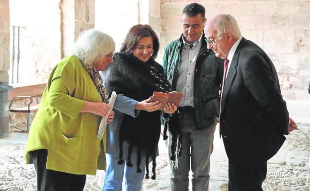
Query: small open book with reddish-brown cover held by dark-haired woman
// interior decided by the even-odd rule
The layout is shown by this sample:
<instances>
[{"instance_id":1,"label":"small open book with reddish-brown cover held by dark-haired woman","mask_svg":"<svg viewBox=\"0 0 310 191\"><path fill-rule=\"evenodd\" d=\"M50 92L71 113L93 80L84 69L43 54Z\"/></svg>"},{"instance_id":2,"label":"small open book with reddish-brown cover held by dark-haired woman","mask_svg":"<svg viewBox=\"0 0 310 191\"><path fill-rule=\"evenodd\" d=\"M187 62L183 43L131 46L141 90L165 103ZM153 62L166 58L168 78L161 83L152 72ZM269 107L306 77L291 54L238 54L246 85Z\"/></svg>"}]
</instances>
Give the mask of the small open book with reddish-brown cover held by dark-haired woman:
<instances>
[{"instance_id":1,"label":"small open book with reddish-brown cover held by dark-haired woman","mask_svg":"<svg viewBox=\"0 0 310 191\"><path fill-rule=\"evenodd\" d=\"M159 101L161 103L161 107L159 110L163 110L166 107L167 103L173 103L176 106L179 106L182 97L183 93L179 91L171 91L169 93L155 91L153 93L151 102Z\"/></svg>"}]
</instances>

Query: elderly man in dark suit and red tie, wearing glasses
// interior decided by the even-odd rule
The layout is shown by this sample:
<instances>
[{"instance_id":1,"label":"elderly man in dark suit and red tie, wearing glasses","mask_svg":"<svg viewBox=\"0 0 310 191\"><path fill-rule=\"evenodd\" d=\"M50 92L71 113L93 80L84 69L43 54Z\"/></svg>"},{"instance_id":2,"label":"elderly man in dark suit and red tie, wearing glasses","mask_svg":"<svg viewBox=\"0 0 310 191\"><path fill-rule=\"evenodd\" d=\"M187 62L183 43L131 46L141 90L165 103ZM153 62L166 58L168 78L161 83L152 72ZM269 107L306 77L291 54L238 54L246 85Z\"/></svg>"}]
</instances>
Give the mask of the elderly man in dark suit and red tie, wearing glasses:
<instances>
[{"instance_id":1,"label":"elderly man in dark suit and red tie, wearing glasses","mask_svg":"<svg viewBox=\"0 0 310 191\"><path fill-rule=\"evenodd\" d=\"M262 191L267 160L296 126L282 99L276 69L267 54L241 36L228 14L212 18L208 48L225 59L220 135L229 158L229 191Z\"/></svg>"}]
</instances>

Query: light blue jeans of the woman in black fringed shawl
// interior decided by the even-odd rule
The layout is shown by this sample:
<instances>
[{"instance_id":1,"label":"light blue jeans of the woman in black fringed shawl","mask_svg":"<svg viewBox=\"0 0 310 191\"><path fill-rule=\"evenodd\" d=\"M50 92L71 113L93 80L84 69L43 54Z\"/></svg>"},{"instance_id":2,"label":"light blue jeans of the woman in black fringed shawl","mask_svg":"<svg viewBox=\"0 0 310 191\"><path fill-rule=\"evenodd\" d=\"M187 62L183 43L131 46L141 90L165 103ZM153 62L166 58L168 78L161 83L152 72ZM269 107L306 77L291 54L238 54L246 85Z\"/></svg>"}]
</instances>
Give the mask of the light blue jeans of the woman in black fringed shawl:
<instances>
[{"instance_id":1,"label":"light blue jeans of the woman in black fringed shawl","mask_svg":"<svg viewBox=\"0 0 310 191\"><path fill-rule=\"evenodd\" d=\"M126 165L126 161L118 165L116 162L118 158L105 154L107 169L104 177L104 184L102 191L122 191L122 182L125 171L125 191L141 191L142 183L144 179L145 173L145 156L141 156L141 165L140 168L142 170L141 173L137 173L137 156L136 152L132 153L131 162L133 167L128 167Z\"/></svg>"}]
</instances>

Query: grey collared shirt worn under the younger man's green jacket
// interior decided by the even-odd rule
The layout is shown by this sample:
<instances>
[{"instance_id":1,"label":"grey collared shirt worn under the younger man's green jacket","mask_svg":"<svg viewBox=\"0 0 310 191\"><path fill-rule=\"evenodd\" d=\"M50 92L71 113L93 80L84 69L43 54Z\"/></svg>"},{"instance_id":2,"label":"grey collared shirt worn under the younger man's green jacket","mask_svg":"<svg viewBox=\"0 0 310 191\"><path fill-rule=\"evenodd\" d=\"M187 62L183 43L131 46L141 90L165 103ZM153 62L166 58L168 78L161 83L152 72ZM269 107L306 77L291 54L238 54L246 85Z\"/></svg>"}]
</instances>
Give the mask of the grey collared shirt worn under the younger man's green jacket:
<instances>
[{"instance_id":1,"label":"grey collared shirt worn under the younger man's green jacket","mask_svg":"<svg viewBox=\"0 0 310 191\"><path fill-rule=\"evenodd\" d=\"M202 34L199 40L193 43L193 47L183 39L183 48L181 53L181 63L178 70L178 79L176 82L176 91L183 93L179 106L194 107L194 71L197 57L201 47Z\"/></svg>"}]
</instances>

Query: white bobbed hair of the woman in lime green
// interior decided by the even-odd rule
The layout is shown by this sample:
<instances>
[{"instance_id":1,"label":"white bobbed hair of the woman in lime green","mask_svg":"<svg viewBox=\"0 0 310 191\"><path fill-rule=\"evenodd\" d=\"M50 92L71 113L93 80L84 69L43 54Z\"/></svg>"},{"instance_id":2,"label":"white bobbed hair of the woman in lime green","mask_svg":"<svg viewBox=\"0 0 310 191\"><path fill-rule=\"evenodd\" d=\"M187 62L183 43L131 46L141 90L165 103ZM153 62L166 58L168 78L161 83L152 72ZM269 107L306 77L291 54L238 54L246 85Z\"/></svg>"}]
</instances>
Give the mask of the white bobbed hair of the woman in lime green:
<instances>
[{"instance_id":1,"label":"white bobbed hair of the woman in lime green","mask_svg":"<svg viewBox=\"0 0 310 191\"><path fill-rule=\"evenodd\" d=\"M72 49L75 55L83 64L92 66L98 59L103 59L105 55L114 54L114 40L99 29L89 29L83 31Z\"/></svg>"}]
</instances>

